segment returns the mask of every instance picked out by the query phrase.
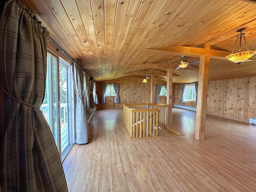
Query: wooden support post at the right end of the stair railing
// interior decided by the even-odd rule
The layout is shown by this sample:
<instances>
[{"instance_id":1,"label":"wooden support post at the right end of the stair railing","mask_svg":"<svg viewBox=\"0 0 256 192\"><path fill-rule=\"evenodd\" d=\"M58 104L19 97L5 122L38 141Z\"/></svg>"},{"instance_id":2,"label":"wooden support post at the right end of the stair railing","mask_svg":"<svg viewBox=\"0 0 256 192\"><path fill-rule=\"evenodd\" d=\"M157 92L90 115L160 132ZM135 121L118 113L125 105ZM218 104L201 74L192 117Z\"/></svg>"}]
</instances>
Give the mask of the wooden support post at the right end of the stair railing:
<instances>
[{"instance_id":1,"label":"wooden support post at the right end of the stair railing","mask_svg":"<svg viewBox=\"0 0 256 192\"><path fill-rule=\"evenodd\" d=\"M172 62L168 62L169 69L167 69L167 86L166 86L166 124L172 124Z\"/></svg>"}]
</instances>

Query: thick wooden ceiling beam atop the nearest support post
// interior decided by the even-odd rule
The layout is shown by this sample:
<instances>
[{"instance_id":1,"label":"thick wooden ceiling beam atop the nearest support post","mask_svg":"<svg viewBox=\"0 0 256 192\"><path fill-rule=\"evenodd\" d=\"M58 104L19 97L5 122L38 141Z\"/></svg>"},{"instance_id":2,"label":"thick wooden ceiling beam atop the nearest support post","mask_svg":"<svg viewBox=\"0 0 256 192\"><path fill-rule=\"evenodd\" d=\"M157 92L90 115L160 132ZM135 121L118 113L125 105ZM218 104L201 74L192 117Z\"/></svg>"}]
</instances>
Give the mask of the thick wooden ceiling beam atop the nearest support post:
<instances>
[{"instance_id":1,"label":"thick wooden ceiling beam atop the nearest support post","mask_svg":"<svg viewBox=\"0 0 256 192\"><path fill-rule=\"evenodd\" d=\"M192 57L210 56L213 59L226 59L225 56L230 54L229 51L215 50L215 49L204 49L197 47L188 46L173 46L173 47L162 47L162 48L150 48L144 49L145 52L154 52L162 54L173 54L173 55L185 55Z\"/></svg>"}]
</instances>

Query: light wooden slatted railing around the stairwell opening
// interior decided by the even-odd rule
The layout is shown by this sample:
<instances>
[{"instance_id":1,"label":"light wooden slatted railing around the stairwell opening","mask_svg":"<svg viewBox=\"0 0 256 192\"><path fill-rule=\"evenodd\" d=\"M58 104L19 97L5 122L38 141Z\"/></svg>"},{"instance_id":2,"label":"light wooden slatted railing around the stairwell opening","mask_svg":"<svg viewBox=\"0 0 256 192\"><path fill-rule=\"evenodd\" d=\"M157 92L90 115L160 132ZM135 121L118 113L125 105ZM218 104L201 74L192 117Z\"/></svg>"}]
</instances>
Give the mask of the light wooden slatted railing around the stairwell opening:
<instances>
[{"instance_id":1,"label":"light wooden slatted railing around the stairwell opening","mask_svg":"<svg viewBox=\"0 0 256 192\"><path fill-rule=\"evenodd\" d=\"M124 126L131 138L158 136L159 128L166 128L164 104L123 104Z\"/></svg>"}]
</instances>

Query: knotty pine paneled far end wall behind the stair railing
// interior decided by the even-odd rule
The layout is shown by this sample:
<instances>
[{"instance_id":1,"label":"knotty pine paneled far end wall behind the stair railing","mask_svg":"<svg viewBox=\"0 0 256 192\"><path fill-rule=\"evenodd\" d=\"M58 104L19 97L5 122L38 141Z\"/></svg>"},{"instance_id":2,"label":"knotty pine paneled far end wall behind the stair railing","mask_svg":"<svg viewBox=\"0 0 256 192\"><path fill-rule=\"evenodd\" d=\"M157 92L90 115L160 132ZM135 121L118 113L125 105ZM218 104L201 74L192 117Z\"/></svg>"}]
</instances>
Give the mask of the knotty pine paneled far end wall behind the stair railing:
<instances>
[{"instance_id":1,"label":"knotty pine paneled far end wall behind the stair railing","mask_svg":"<svg viewBox=\"0 0 256 192\"><path fill-rule=\"evenodd\" d=\"M109 81L97 82L97 96L99 104L97 106L98 109L106 109L106 108L122 108L122 104L126 103L150 103L150 95L151 95L151 79L148 82L143 83L143 79L132 79L132 78L119 78ZM119 84L119 99L120 104L114 103L115 97L106 97L106 102L104 104L100 104L102 98L102 83ZM157 84L166 84L166 82L162 82L160 80L156 80L154 91L156 92ZM160 103L166 104L166 97L160 97Z\"/></svg>"}]
</instances>

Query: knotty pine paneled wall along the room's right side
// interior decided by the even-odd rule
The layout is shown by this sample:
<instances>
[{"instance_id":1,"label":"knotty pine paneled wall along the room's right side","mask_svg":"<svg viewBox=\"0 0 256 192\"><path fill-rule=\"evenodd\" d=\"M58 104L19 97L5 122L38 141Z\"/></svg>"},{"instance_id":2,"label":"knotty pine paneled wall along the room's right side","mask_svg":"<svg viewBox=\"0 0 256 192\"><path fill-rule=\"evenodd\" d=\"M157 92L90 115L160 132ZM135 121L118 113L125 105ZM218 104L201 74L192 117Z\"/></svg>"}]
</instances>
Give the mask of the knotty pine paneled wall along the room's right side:
<instances>
[{"instance_id":1,"label":"knotty pine paneled wall along the room's right side","mask_svg":"<svg viewBox=\"0 0 256 192\"><path fill-rule=\"evenodd\" d=\"M173 104L181 105L181 84L173 88ZM194 102L183 105L195 107ZM210 81L206 113L244 122L256 117L256 77Z\"/></svg>"}]
</instances>

